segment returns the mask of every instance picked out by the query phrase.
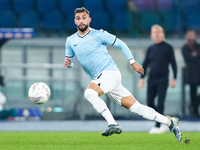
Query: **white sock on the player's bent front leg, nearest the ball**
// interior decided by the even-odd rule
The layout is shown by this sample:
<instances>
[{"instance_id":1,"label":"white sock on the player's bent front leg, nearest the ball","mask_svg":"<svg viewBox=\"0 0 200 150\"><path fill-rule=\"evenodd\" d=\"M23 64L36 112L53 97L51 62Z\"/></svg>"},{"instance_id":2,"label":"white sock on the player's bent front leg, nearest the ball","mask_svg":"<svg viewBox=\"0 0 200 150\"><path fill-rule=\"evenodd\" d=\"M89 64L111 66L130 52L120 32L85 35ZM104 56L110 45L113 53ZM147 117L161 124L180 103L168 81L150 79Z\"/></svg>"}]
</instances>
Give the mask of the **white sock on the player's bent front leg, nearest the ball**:
<instances>
[{"instance_id":1,"label":"white sock on the player's bent front leg, nearest the ball","mask_svg":"<svg viewBox=\"0 0 200 150\"><path fill-rule=\"evenodd\" d=\"M99 98L96 91L93 89L86 89L85 97L93 105L94 109L106 119L108 125L117 125L106 103L101 98Z\"/></svg>"}]
</instances>

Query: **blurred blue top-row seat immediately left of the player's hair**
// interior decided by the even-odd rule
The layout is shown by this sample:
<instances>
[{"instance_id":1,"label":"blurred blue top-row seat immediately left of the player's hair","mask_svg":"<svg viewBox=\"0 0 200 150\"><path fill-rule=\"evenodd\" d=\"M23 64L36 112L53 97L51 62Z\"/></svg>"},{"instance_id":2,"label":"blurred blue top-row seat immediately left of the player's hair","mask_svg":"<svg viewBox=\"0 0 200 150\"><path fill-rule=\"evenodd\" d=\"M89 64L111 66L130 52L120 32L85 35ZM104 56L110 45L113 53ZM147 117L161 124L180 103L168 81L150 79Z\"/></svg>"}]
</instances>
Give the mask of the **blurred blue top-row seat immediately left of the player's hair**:
<instances>
[{"instance_id":1,"label":"blurred blue top-row seat immediately left of the player's hair","mask_svg":"<svg viewBox=\"0 0 200 150\"><path fill-rule=\"evenodd\" d=\"M59 9L63 14L71 14L78 7L80 7L80 0L59 0Z\"/></svg>"}]
</instances>

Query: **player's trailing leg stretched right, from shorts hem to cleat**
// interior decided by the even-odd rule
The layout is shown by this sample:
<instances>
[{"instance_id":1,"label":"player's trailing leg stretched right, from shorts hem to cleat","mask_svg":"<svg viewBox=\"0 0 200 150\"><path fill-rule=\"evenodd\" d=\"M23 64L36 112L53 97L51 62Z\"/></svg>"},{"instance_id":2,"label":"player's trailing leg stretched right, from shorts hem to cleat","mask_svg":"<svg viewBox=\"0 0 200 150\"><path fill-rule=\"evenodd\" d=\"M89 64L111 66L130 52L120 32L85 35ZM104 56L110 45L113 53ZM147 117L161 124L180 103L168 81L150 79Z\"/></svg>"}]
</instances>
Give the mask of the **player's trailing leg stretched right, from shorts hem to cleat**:
<instances>
[{"instance_id":1,"label":"player's trailing leg stretched right, from shorts hem to cleat","mask_svg":"<svg viewBox=\"0 0 200 150\"><path fill-rule=\"evenodd\" d=\"M131 112L134 112L145 119L160 122L169 127L171 132L174 132L177 141L181 140L181 131L178 128L178 119L177 118L168 118L158 112L153 108L150 108L146 105L140 104L130 92L124 88L122 85L118 86L116 89L109 92L111 97L115 99L118 104L121 104L125 108L129 109ZM127 95L127 96L125 96Z\"/></svg>"}]
</instances>

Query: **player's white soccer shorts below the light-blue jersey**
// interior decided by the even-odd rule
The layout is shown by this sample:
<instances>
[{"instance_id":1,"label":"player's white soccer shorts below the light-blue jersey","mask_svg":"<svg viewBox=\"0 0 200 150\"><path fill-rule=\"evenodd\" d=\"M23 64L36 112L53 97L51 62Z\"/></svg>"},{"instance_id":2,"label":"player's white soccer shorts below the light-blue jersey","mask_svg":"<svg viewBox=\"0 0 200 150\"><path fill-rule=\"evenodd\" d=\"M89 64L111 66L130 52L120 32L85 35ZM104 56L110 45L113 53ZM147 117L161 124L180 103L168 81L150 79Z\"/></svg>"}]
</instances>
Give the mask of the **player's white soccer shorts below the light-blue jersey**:
<instances>
[{"instance_id":1,"label":"player's white soccer shorts below the light-blue jersey","mask_svg":"<svg viewBox=\"0 0 200 150\"><path fill-rule=\"evenodd\" d=\"M102 91L119 105L121 105L121 99L123 97L132 96L132 94L122 86L121 73L118 70L102 71L91 82L99 85Z\"/></svg>"}]
</instances>

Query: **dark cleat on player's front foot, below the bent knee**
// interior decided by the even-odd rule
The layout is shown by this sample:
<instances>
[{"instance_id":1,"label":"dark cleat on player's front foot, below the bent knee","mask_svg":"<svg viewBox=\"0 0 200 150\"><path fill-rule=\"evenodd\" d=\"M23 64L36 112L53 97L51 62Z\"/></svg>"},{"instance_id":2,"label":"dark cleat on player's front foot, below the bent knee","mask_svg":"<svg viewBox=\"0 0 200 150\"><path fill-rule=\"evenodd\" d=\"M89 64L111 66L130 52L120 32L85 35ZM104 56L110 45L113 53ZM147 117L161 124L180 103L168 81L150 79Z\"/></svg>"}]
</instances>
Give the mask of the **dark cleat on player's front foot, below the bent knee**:
<instances>
[{"instance_id":1,"label":"dark cleat on player's front foot, below the bent knee","mask_svg":"<svg viewBox=\"0 0 200 150\"><path fill-rule=\"evenodd\" d=\"M109 125L106 131L102 132L102 136L111 136L112 134L120 134L122 132L119 125Z\"/></svg>"}]
</instances>

